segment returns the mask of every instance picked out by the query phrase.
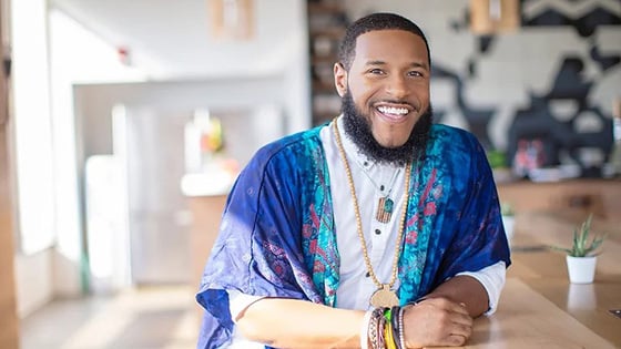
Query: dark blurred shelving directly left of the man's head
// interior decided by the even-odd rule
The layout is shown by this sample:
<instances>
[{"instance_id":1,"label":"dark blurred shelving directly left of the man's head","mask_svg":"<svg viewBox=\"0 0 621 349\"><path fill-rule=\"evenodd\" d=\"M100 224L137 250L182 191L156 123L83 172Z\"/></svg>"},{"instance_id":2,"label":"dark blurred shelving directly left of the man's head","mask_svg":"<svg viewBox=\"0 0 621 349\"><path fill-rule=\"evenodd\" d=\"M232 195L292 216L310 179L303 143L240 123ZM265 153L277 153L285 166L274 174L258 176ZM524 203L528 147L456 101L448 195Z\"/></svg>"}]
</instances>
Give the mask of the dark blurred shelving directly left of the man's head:
<instances>
[{"instance_id":1,"label":"dark blurred shelving directly left of the man's head","mask_svg":"<svg viewBox=\"0 0 621 349\"><path fill-rule=\"evenodd\" d=\"M308 1L307 7L312 123L318 125L340 113L333 71L348 20L338 1Z\"/></svg>"}]
</instances>

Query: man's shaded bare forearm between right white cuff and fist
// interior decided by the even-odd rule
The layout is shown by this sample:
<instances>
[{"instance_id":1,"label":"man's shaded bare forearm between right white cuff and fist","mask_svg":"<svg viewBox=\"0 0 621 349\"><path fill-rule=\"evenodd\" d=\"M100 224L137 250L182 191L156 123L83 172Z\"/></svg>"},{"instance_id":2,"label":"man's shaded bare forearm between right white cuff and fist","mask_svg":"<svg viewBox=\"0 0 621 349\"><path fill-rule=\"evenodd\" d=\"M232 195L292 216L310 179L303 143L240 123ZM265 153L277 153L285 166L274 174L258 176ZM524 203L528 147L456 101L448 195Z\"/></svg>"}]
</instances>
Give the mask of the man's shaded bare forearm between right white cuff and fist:
<instances>
[{"instance_id":1,"label":"man's shaded bare forearm between right white cuff and fist","mask_svg":"<svg viewBox=\"0 0 621 349\"><path fill-rule=\"evenodd\" d=\"M470 276L452 277L425 296L425 298L438 297L466 305L471 317L478 317L489 308L487 290L481 283Z\"/></svg>"}]
</instances>

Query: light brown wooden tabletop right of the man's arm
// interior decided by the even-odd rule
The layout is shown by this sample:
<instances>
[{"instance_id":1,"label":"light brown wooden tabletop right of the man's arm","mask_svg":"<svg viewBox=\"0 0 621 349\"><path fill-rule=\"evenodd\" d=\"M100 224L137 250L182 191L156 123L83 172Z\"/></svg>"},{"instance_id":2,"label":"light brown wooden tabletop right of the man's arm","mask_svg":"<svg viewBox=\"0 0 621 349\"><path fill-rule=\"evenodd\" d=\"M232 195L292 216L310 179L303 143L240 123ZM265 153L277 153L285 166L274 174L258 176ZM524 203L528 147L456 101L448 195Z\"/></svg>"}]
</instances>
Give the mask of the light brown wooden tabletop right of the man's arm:
<instances>
[{"instance_id":1,"label":"light brown wooden tabletop right of the man's arm","mask_svg":"<svg viewBox=\"0 0 621 349\"><path fill-rule=\"evenodd\" d=\"M609 312L621 309L621 224L593 222L609 239L589 285L570 284L564 255L544 247L567 244L573 226L562 215L518 216L498 310L476 320L466 348L621 348L621 318Z\"/></svg>"}]
</instances>

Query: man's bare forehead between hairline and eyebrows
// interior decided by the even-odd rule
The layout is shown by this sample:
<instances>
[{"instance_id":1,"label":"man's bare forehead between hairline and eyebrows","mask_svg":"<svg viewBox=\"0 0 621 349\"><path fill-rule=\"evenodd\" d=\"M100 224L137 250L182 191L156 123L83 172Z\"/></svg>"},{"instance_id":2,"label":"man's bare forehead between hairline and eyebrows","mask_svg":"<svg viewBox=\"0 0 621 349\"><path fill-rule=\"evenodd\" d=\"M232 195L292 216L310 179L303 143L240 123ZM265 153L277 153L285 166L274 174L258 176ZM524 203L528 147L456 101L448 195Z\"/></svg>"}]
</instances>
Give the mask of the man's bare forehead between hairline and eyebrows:
<instances>
[{"instance_id":1,"label":"man's bare forehead between hairline and eyebrows","mask_svg":"<svg viewBox=\"0 0 621 349\"><path fill-rule=\"evenodd\" d=\"M368 61L428 64L425 41L419 35L406 30L374 30L356 39L354 62Z\"/></svg>"}]
</instances>

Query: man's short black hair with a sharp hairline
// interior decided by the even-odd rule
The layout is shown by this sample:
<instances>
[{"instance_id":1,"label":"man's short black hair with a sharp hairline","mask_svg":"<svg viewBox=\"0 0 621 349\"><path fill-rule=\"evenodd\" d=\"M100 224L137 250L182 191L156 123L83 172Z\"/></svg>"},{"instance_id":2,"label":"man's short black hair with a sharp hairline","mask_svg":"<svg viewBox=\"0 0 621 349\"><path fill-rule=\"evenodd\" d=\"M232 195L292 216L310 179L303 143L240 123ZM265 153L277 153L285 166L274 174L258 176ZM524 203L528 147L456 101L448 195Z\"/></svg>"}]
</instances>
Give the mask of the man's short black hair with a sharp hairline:
<instances>
[{"instance_id":1,"label":"man's short black hair with a sharp hairline","mask_svg":"<svg viewBox=\"0 0 621 349\"><path fill-rule=\"evenodd\" d=\"M347 28L338 49L339 63L343 64L346 70L349 70L354 61L354 55L356 54L356 39L369 31L387 29L405 30L420 37L427 48L429 69L431 68L431 52L429 51L429 44L427 43L427 38L425 38L423 30L407 18L388 12L368 14L356 20Z\"/></svg>"}]
</instances>

